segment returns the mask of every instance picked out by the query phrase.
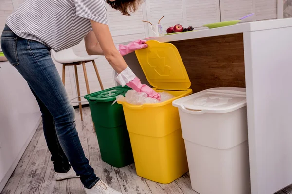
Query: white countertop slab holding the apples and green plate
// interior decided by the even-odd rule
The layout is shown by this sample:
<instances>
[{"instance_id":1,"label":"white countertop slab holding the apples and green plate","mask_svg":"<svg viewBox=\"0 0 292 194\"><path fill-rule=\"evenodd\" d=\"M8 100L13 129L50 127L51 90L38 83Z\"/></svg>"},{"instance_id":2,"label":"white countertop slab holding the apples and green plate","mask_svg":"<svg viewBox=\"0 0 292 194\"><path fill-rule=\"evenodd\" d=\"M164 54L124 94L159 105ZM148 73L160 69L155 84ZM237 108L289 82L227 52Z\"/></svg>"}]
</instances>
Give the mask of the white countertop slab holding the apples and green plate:
<instances>
[{"instance_id":1,"label":"white countertop slab holding the apples and green plate","mask_svg":"<svg viewBox=\"0 0 292 194\"><path fill-rule=\"evenodd\" d=\"M152 38L146 38L145 40L157 40L159 42L172 42L172 41L179 41L179 40L188 40L188 39L236 34L236 33L243 33L243 32L286 28L286 27L291 27L291 26L292 26L292 18L274 19L274 20L239 23L232 26L225 26L225 27L213 28L213 29L204 29L204 30L199 30L199 31L166 35L166 36L161 36L161 37L152 37ZM124 42L121 44L128 44L128 43L129 42Z\"/></svg>"}]
</instances>

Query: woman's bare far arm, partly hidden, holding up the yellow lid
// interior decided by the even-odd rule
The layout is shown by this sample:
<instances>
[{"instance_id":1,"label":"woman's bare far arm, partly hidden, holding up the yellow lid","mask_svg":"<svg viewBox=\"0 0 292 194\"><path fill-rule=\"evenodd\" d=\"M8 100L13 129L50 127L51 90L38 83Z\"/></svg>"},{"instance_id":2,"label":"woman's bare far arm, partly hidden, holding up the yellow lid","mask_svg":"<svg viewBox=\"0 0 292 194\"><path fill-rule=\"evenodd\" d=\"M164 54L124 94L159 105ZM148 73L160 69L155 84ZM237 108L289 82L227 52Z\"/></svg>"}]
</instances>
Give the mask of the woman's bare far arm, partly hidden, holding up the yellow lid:
<instances>
[{"instance_id":1,"label":"woman's bare far arm, partly hidden, holding up the yellow lid","mask_svg":"<svg viewBox=\"0 0 292 194\"><path fill-rule=\"evenodd\" d=\"M104 55L93 31L84 38L86 52L89 55Z\"/></svg>"}]
</instances>

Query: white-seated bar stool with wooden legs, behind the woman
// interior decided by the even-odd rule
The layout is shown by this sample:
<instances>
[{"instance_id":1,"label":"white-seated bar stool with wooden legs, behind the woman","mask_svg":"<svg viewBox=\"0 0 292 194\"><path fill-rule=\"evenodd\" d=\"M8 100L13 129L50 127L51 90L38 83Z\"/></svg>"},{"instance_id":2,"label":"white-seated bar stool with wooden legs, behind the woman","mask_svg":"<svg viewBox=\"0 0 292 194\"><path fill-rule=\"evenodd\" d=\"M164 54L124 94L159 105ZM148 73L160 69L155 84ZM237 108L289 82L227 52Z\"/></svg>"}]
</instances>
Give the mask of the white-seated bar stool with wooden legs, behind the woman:
<instances>
[{"instance_id":1,"label":"white-seated bar stool with wooden legs, behind the woman","mask_svg":"<svg viewBox=\"0 0 292 194\"><path fill-rule=\"evenodd\" d=\"M57 53L54 50L51 50L51 54L52 54L53 59L55 59L56 62L63 64L62 81L63 81L64 85L65 85L65 67L66 66L74 66L75 77L76 77L77 95L78 95L77 98L78 98L78 103L79 103L81 121L83 121L82 104L81 104L81 102L82 102L81 97L82 96L80 96L80 87L79 87L79 80L78 80L78 73L77 73L77 65L82 64L87 94L90 94L89 84L88 84L88 79L87 79L87 72L86 72L86 67L85 67L85 63L88 63L88 62L92 62L97 79L99 81L100 88L102 90L104 90L103 84L101 82L101 79L100 79L100 76L99 76L95 61L94 61L95 59L98 58L98 56L92 55L92 56L79 57L79 56L75 55L72 48L65 49L65 50L62 50L62 51L57 52ZM73 98L73 99L75 99L75 98ZM71 100L73 100L73 99L71 99Z\"/></svg>"}]
</instances>

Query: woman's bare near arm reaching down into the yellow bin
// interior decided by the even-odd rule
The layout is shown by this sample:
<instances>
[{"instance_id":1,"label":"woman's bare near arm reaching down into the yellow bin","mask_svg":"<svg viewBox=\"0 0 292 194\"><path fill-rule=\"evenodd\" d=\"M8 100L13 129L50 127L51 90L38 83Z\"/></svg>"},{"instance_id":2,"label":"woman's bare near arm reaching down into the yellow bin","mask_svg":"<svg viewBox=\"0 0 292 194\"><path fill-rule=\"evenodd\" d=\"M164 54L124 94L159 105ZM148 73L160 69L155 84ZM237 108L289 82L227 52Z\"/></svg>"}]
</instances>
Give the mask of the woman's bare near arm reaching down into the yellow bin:
<instances>
[{"instance_id":1,"label":"woman's bare near arm reaching down into the yellow bin","mask_svg":"<svg viewBox=\"0 0 292 194\"><path fill-rule=\"evenodd\" d=\"M100 48L103 51L106 59L117 73L121 73L127 68L128 65L126 64L122 55L116 49L108 25L92 20L90 20L90 22L98 42L97 44L100 45Z\"/></svg>"}]
</instances>

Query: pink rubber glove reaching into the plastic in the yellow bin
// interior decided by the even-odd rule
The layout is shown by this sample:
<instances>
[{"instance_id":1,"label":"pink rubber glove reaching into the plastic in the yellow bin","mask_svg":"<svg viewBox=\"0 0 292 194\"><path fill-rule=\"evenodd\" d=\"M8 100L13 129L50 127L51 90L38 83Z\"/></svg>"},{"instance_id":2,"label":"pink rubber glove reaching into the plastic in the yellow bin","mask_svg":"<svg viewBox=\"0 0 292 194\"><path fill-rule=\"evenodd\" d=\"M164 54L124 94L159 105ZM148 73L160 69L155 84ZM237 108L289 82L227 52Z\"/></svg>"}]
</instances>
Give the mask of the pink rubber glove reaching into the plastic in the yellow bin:
<instances>
[{"instance_id":1,"label":"pink rubber glove reaching into the plastic in the yellow bin","mask_svg":"<svg viewBox=\"0 0 292 194\"><path fill-rule=\"evenodd\" d=\"M143 85L139 78L135 78L134 80L130 81L126 84L128 87L136 90L136 92L145 92L148 97L158 99L160 101L160 94L155 92L152 88L147 85Z\"/></svg>"}]
</instances>

